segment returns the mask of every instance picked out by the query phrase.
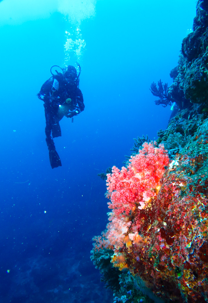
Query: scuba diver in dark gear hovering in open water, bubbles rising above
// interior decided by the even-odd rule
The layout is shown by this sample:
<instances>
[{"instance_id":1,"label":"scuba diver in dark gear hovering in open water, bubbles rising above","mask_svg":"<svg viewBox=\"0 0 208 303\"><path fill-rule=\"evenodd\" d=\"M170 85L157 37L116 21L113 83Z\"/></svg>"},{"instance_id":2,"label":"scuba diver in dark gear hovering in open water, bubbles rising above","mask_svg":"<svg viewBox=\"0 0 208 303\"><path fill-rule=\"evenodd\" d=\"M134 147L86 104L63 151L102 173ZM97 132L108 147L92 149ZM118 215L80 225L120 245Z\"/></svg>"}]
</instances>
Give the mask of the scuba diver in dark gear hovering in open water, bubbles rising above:
<instances>
[{"instance_id":1,"label":"scuba diver in dark gear hovering in open water, bubbles rising above","mask_svg":"<svg viewBox=\"0 0 208 303\"><path fill-rule=\"evenodd\" d=\"M42 86L37 96L44 101L45 108L45 135L46 144L49 150L49 159L51 167L61 166L61 160L55 149L53 138L61 136L61 128L59 121L66 116L72 118L84 111L83 95L79 89L79 75L81 72L80 65L79 74L74 66L68 65L67 68L62 69L62 72L52 73ZM51 67L51 70L54 66ZM58 68L60 68L58 66ZM52 137L51 137L52 132Z\"/></svg>"}]
</instances>

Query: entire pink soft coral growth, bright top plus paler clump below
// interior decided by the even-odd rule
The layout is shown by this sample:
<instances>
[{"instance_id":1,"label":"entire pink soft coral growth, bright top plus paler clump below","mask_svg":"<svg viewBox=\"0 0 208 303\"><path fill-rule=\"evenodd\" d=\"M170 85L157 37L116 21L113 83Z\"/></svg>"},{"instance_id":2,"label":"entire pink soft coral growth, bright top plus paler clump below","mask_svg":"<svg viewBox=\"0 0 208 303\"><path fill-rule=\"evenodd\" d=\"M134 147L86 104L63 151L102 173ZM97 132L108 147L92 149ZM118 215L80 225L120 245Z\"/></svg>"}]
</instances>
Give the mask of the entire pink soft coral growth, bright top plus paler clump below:
<instances>
[{"instance_id":1,"label":"entire pink soft coral growth, bright top plus paler clump below","mask_svg":"<svg viewBox=\"0 0 208 303\"><path fill-rule=\"evenodd\" d=\"M97 247L105 246L118 251L129 238L126 237L131 216L136 210L143 209L148 201L157 195L160 179L169 163L167 151L163 145L156 147L156 142L143 144L142 150L129 160L128 167L121 171L113 166L112 173L107 174L107 197L110 198L107 230L102 241L97 238ZM102 243L101 243L102 242ZM127 243L126 243L127 244Z\"/></svg>"}]
</instances>

